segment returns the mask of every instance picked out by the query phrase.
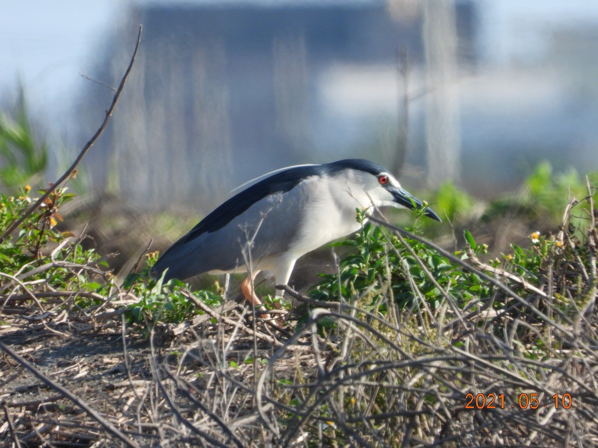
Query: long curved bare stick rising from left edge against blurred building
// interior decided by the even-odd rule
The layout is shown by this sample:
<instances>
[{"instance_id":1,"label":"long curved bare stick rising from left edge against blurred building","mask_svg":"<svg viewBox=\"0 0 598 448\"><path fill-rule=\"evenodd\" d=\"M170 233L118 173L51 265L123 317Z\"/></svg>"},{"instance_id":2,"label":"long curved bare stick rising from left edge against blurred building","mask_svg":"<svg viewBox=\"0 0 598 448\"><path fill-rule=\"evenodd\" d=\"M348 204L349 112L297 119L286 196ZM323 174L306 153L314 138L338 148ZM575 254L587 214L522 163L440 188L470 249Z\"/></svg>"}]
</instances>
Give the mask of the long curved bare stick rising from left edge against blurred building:
<instances>
[{"instance_id":1,"label":"long curved bare stick rising from left edge against blurred building","mask_svg":"<svg viewBox=\"0 0 598 448\"><path fill-rule=\"evenodd\" d=\"M75 159L75 161L73 162L71 167L68 170L66 170L62 176L60 176L60 179L58 179L56 182L54 182L54 185L51 185L50 188L47 189L45 194L42 195L42 197L39 198L35 202L35 204L31 205L31 207L29 207L25 211L25 213L23 213L23 215L13 223L13 225L11 225L8 229L6 229L4 234L2 234L2 236L0 236L0 243L2 243L4 240L6 240L8 238L8 235L10 235L14 231L14 229L19 227L23 223L23 221L25 221L33 213L33 211L35 211L36 208L39 207L39 205L44 203L45 199L48 196L50 196L61 183L65 182L65 180L71 176L73 171L75 171L75 168L77 168L77 165L81 162L81 159L83 159L83 156L86 155L87 151L89 151L91 146L93 146L93 144L96 143L97 137L99 137L105 130L106 125L108 125L108 121L110 120L110 118L112 116L112 112L114 112L114 108L116 107L118 98L120 97L120 94L123 91L124 83L127 81L127 78L129 77L129 73L131 72L131 69L133 68L133 63L135 63L135 57L137 56L137 50L139 49L139 42L141 42L141 29L142 29L142 26L139 25L139 33L137 35L137 42L135 44L135 50L133 51L133 56L131 57L129 67L127 67L126 72L124 72L123 79L121 79L120 85L118 85L118 89L117 89L116 93L114 94L114 98L112 99L112 104L110 105L110 108L108 109L108 111L106 111L106 116L104 118L104 121L102 122L102 125L100 125L100 127L97 129L96 133L93 134L93 137L91 137L89 142L87 142L87 144L83 147L83 149L81 150L81 152L79 153L79 155L77 156L77 158Z\"/></svg>"}]
</instances>

